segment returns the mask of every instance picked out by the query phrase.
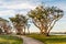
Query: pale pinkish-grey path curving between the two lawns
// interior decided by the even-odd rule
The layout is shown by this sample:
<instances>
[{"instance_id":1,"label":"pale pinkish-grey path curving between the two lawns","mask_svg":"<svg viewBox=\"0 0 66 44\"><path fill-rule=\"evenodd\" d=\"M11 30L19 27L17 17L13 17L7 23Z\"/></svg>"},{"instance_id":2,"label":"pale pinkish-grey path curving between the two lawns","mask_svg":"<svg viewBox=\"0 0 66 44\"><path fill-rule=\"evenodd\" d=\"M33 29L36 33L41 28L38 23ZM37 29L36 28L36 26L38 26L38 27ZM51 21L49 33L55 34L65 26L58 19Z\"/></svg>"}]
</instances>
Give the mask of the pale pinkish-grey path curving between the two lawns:
<instances>
[{"instance_id":1,"label":"pale pinkish-grey path curving between the two lawns","mask_svg":"<svg viewBox=\"0 0 66 44\"><path fill-rule=\"evenodd\" d=\"M23 38L23 44L43 44L42 42L32 37L21 36L21 38Z\"/></svg>"}]
</instances>

